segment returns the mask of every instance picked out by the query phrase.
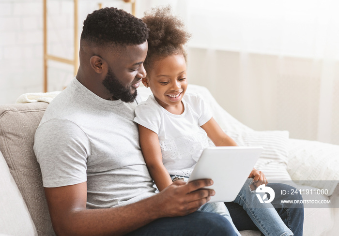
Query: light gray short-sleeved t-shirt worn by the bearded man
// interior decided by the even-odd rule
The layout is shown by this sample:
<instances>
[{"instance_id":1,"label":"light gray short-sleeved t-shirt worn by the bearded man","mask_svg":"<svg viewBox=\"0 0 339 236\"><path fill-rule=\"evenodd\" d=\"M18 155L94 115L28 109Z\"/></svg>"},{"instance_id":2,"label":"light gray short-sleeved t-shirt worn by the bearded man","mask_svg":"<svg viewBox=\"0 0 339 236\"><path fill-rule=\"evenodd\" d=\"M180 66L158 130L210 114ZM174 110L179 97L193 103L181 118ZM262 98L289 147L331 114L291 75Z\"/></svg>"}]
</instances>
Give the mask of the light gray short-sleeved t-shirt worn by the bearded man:
<instances>
[{"instance_id":1,"label":"light gray short-sleeved t-shirt worn by the bearded man","mask_svg":"<svg viewBox=\"0 0 339 236\"><path fill-rule=\"evenodd\" d=\"M87 181L88 208L154 195L133 122L136 105L102 99L74 78L48 105L35 133L44 187Z\"/></svg>"}]
</instances>

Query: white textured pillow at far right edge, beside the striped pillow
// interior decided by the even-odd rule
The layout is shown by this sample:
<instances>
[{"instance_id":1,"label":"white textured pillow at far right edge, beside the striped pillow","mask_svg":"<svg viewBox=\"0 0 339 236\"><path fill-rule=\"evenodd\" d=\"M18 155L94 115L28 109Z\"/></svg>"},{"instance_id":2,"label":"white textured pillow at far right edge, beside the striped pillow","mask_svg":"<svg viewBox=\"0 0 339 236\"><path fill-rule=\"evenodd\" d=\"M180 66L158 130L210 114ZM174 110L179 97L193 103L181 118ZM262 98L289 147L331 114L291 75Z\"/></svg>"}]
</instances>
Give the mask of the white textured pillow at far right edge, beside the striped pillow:
<instances>
[{"instance_id":1,"label":"white textured pillow at far right edge, beside the striped pillow","mask_svg":"<svg viewBox=\"0 0 339 236\"><path fill-rule=\"evenodd\" d=\"M298 184L327 189L332 195L339 183L339 146L291 139L287 171Z\"/></svg>"}]
</instances>

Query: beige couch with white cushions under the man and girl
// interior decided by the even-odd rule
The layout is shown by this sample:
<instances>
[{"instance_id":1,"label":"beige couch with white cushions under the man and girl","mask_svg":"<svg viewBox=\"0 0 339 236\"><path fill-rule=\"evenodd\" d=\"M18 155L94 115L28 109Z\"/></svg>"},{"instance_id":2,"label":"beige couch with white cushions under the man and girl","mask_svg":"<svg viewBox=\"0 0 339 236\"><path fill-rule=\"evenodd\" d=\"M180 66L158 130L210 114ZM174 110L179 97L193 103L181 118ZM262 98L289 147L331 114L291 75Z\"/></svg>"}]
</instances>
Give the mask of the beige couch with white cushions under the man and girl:
<instances>
[{"instance_id":1,"label":"beige couch with white cushions under the man and girl","mask_svg":"<svg viewBox=\"0 0 339 236\"><path fill-rule=\"evenodd\" d=\"M138 92L143 99L150 94L150 90L144 87L140 87ZM266 173L269 181L294 180L300 186L317 185L319 183L313 183L312 177L323 177L321 180L326 180L323 185L330 192L322 195L322 199L333 202L338 199L339 191L336 186L339 171L337 172L338 167L335 163L339 158L339 146L290 139L286 131L253 131L222 109L207 88L189 85L187 92L197 92L204 97L214 118L239 145L261 145L265 148L256 167ZM55 235L48 213L39 164L33 152L34 133L47 105L46 102L0 105L2 236ZM329 149L330 153L327 151ZM326 173L330 174L324 175L322 166ZM316 187L324 188L314 186ZM304 235L337 235L338 222L338 208L330 205L306 207ZM241 234L260 235L256 231L242 231Z\"/></svg>"}]
</instances>

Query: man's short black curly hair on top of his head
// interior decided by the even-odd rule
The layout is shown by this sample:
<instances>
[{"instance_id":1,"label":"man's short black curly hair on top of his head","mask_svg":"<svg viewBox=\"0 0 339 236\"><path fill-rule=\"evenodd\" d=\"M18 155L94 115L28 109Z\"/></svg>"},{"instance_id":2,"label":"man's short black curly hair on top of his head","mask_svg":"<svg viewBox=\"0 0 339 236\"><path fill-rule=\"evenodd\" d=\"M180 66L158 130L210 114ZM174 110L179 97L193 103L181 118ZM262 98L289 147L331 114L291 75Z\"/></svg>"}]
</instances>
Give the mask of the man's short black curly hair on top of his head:
<instances>
[{"instance_id":1,"label":"man's short black curly hair on top of his head","mask_svg":"<svg viewBox=\"0 0 339 236\"><path fill-rule=\"evenodd\" d=\"M144 43L147 38L148 29L141 19L114 7L88 14L81 33L81 41L96 46L136 45Z\"/></svg>"}]
</instances>

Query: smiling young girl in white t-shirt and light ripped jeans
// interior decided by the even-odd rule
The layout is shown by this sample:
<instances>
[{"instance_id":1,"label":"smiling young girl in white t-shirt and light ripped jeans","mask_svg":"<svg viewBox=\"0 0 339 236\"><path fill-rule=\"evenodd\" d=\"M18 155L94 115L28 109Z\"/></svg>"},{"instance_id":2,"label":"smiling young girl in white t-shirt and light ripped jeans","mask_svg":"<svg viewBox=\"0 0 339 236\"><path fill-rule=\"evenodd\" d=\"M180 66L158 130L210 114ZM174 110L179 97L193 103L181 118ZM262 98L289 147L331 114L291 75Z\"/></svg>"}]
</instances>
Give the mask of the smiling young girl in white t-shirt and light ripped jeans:
<instances>
[{"instance_id":1,"label":"smiling young girl in white t-shirt and light ripped jeans","mask_svg":"<svg viewBox=\"0 0 339 236\"><path fill-rule=\"evenodd\" d=\"M236 146L236 143L221 130L199 95L185 94L184 45L190 35L183 23L170 14L169 7L155 9L143 21L150 32L144 62L147 76L142 83L151 88L153 95L137 106L134 121L138 123L145 162L162 191L173 181L187 181L201 150L209 146L208 138L216 146ZM252 201L258 201L249 188L252 182L256 187L267 184L266 178L253 170L234 202L243 206L264 235L293 235L274 207L252 208ZM224 203L207 203L200 210L223 215L240 235Z\"/></svg>"}]
</instances>

